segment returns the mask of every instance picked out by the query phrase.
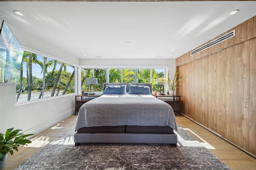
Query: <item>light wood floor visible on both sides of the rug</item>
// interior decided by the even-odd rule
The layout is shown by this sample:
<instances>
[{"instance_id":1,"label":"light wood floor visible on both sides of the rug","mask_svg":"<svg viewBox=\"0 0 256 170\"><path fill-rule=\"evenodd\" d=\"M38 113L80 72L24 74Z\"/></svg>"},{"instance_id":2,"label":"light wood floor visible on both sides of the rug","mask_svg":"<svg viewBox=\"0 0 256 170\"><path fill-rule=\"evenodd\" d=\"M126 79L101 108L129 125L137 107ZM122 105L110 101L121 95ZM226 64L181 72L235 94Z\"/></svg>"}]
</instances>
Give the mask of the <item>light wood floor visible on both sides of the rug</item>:
<instances>
[{"instance_id":1,"label":"light wood floor visible on both sides of the rug","mask_svg":"<svg viewBox=\"0 0 256 170\"><path fill-rule=\"evenodd\" d=\"M33 138L30 138L30 140L33 141L31 144L22 146L18 152L14 151L12 156L8 154L7 164L3 170L15 169L26 159L30 158L33 154L75 125L76 118L77 116L72 115L43 132L36 134ZM176 119L180 127L184 128L199 142L202 142L208 150L232 170L256 170L256 159L252 156L229 144L225 140L222 140L186 117L176 115Z\"/></svg>"}]
</instances>

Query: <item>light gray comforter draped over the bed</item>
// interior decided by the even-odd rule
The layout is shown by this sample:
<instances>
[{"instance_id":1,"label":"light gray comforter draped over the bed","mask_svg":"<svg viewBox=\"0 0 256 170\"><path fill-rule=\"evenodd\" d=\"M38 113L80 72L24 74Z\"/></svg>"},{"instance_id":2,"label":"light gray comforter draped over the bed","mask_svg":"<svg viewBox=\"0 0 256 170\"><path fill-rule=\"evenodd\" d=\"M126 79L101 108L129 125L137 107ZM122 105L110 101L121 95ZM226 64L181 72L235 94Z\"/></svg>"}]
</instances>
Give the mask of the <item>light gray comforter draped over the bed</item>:
<instances>
[{"instance_id":1,"label":"light gray comforter draped over the bed","mask_svg":"<svg viewBox=\"0 0 256 170\"><path fill-rule=\"evenodd\" d=\"M102 95L79 110L75 130L98 126L169 126L177 131L170 105L152 95Z\"/></svg>"}]
</instances>

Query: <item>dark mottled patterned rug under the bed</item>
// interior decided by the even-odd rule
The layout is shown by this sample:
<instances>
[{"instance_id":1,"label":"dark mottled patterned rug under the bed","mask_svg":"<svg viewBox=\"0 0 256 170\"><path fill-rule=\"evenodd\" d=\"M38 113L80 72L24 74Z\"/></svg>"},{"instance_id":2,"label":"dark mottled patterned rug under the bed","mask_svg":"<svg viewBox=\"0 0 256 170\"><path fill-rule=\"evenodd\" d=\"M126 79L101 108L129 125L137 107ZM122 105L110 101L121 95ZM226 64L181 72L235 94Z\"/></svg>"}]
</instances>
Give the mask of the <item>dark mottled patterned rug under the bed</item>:
<instances>
[{"instance_id":1,"label":"dark mottled patterned rug under the bed","mask_svg":"<svg viewBox=\"0 0 256 170\"><path fill-rule=\"evenodd\" d=\"M178 144L74 145L74 127L16 170L230 170L182 128Z\"/></svg>"}]
</instances>

